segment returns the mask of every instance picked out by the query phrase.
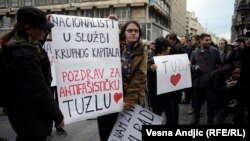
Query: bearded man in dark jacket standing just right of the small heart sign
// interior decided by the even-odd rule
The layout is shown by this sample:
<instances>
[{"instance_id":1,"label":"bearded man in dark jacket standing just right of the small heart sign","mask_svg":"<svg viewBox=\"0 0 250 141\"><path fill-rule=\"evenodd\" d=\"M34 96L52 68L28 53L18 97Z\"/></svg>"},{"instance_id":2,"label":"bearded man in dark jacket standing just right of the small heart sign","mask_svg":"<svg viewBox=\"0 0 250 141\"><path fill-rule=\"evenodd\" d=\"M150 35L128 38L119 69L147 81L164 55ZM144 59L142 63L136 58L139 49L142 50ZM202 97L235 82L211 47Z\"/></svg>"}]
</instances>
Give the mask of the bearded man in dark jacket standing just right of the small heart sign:
<instances>
[{"instance_id":1,"label":"bearded man in dark jacket standing just right of the small heart sign","mask_svg":"<svg viewBox=\"0 0 250 141\"><path fill-rule=\"evenodd\" d=\"M213 124L214 119L214 91L212 89L212 78L217 71L218 65L222 64L220 52L217 48L210 45L211 37L209 34L200 35L200 47L191 54L191 69L194 88L194 115L191 124L198 124L200 110L207 101L207 123Z\"/></svg>"}]
</instances>

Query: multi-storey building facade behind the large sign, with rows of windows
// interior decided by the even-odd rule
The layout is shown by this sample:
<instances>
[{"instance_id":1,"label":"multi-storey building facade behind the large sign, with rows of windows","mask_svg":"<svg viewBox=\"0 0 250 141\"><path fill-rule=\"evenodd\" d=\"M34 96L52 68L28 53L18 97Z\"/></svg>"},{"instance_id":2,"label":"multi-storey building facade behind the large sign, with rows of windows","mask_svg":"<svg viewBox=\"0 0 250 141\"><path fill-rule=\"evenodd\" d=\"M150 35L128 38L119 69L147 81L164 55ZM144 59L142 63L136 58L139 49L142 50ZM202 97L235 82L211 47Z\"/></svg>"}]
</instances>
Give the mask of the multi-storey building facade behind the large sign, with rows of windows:
<instances>
[{"instance_id":1,"label":"multi-storey building facade behind the large sign, with rows of windows","mask_svg":"<svg viewBox=\"0 0 250 141\"><path fill-rule=\"evenodd\" d=\"M154 41L171 32L170 5L167 0L0 0L0 36L13 28L19 7L34 6L47 13L104 18L116 14L119 26L136 20L143 40Z\"/></svg>"}]
</instances>

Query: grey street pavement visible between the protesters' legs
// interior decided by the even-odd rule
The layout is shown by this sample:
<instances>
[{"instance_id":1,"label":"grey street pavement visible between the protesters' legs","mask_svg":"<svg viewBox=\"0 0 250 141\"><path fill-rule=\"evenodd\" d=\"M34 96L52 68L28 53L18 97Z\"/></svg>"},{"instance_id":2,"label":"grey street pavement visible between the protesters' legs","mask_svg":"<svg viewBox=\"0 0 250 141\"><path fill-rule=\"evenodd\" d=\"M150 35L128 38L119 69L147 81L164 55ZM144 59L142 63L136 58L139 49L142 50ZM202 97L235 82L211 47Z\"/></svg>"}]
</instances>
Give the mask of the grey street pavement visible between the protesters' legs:
<instances>
[{"instance_id":1,"label":"grey street pavement visible between the protesters' legs","mask_svg":"<svg viewBox=\"0 0 250 141\"><path fill-rule=\"evenodd\" d=\"M188 125L191 122L192 115L188 115L189 104L180 104L179 124ZM205 106L202 108L202 116L200 124L206 124ZM164 114L162 114L164 115ZM65 126L68 132L67 137L58 136L55 129L52 133L54 141L100 141L97 120L85 120L76 123L71 123ZM0 116L0 137L8 139L8 141L15 141L16 134L11 128L7 116Z\"/></svg>"}]
</instances>

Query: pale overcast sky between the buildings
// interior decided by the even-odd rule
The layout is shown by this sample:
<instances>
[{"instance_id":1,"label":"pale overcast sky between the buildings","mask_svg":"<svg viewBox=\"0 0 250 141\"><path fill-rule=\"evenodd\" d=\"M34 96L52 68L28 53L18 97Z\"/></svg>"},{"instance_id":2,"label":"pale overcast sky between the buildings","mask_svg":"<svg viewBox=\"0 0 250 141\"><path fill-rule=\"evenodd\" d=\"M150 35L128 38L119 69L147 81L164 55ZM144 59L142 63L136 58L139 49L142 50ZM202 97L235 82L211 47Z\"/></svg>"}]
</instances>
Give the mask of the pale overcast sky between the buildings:
<instances>
[{"instance_id":1,"label":"pale overcast sky between the buildings","mask_svg":"<svg viewBox=\"0 0 250 141\"><path fill-rule=\"evenodd\" d=\"M235 0L187 0L201 25L219 37L230 39Z\"/></svg>"}]
</instances>

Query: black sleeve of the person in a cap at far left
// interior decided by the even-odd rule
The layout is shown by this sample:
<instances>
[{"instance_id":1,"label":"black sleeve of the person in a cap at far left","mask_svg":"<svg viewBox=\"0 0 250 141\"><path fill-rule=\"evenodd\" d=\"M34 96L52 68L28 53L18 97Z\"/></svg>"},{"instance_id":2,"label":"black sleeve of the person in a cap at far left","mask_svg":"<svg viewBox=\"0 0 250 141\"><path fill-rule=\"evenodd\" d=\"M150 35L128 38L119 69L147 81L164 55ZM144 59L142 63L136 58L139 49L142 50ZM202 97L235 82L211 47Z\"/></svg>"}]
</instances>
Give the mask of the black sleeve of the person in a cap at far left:
<instances>
[{"instance_id":1,"label":"black sleeve of the person in a cap at far left","mask_svg":"<svg viewBox=\"0 0 250 141\"><path fill-rule=\"evenodd\" d=\"M56 124L61 123L63 115L46 83L40 59L35 55L17 57L12 60L8 70L21 95L18 97L31 103L39 113L53 119Z\"/></svg>"}]
</instances>

